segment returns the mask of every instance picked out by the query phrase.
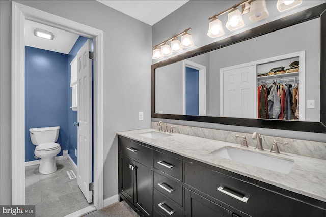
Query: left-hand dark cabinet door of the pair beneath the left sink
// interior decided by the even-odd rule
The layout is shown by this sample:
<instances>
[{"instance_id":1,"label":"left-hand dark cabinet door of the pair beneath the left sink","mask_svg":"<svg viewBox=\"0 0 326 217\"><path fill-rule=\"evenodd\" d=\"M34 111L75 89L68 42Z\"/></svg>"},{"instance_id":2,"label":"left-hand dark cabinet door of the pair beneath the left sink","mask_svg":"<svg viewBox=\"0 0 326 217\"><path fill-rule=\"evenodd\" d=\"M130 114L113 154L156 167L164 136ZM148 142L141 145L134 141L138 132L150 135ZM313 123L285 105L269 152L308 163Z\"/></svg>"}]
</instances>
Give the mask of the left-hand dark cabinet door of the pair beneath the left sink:
<instances>
[{"instance_id":1,"label":"left-hand dark cabinet door of the pair beneath the left sink","mask_svg":"<svg viewBox=\"0 0 326 217\"><path fill-rule=\"evenodd\" d=\"M133 170L132 160L120 154L120 192L133 204Z\"/></svg>"}]
</instances>

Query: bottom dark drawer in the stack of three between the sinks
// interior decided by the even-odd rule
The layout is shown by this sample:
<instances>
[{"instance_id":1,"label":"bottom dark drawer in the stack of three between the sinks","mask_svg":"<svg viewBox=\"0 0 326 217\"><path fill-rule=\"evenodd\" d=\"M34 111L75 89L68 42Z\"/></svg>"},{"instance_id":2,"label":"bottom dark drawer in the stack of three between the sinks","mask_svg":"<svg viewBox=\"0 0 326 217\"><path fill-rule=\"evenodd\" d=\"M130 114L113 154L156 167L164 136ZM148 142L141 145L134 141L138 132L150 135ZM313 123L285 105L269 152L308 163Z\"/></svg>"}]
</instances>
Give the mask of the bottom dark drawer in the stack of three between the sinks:
<instances>
[{"instance_id":1,"label":"bottom dark drawer in the stack of three between the sinks","mask_svg":"<svg viewBox=\"0 0 326 217\"><path fill-rule=\"evenodd\" d=\"M181 217L182 209L172 200L168 199L154 189L154 208L164 216Z\"/></svg>"}]
</instances>

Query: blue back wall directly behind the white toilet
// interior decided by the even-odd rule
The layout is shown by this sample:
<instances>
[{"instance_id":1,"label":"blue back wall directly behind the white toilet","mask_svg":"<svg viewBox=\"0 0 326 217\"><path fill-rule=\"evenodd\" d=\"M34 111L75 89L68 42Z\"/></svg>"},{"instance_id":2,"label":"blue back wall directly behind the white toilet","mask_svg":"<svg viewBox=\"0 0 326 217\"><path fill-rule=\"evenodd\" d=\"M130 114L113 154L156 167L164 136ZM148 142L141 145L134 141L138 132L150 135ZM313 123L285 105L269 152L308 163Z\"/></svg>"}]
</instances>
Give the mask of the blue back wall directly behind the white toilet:
<instances>
[{"instance_id":1,"label":"blue back wall directly behind the white toilet","mask_svg":"<svg viewBox=\"0 0 326 217\"><path fill-rule=\"evenodd\" d=\"M67 63L67 54L25 46L25 161L35 160L30 128L60 126L57 143L68 148Z\"/></svg>"}]
</instances>

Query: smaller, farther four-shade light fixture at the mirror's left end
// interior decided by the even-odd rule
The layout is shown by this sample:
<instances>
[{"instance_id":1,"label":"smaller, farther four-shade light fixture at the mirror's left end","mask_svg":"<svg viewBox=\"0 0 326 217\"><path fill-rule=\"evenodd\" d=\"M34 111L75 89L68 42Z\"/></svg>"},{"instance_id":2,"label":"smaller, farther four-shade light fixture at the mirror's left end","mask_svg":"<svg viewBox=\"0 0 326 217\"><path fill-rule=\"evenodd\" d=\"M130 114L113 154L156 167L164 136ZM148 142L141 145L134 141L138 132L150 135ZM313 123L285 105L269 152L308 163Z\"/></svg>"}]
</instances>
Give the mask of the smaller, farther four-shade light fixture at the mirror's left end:
<instances>
[{"instance_id":1,"label":"smaller, farther four-shade light fixture at the mirror's left end","mask_svg":"<svg viewBox=\"0 0 326 217\"><path fill-rule=\"evenodd\" d=\"M183 48L189 48L194 46L193 37L188 33L192 28L187 28L183 32L173 36L172 38L165 40L154 46L152 59L161 59L166 56L170 56L173 53L183 50ZM181 36L181 42L178 37ZM171 42L170 45L168 42ZM159 48L160 47L160 48Z\"/></svg>"}]
</instances>

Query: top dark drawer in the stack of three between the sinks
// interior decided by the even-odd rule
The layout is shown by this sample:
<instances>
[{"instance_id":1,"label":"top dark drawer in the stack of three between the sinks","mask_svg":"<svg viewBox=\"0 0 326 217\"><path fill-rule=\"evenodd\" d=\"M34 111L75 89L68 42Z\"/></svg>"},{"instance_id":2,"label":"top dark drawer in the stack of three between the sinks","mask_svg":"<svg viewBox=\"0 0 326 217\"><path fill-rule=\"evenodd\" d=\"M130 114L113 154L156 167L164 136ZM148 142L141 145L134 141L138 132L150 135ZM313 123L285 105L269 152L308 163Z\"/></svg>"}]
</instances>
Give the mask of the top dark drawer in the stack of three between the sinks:
<instances>
[{"instance_id":1,"label":"top dark drawer in the stack of three between the sinks","mask_svg":"<svg viewBox=\"0 0 326 217\"><path fill-rule=\"evenodd\" d=\"M154 151L154 167L182 181L182 160Z\"/></svg>"}]
</instances>

